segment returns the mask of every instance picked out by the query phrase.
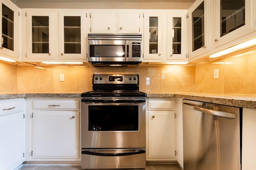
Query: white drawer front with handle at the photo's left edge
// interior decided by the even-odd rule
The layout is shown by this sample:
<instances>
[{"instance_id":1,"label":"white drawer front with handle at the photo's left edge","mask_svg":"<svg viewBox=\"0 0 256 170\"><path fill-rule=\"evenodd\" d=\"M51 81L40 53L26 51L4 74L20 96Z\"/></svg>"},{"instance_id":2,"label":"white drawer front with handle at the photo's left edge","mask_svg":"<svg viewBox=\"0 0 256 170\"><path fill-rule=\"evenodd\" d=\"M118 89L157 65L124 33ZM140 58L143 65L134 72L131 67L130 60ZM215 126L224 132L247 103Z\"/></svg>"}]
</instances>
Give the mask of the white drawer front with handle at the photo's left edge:
<instances>
[{"instance_id":1,"label":"white drawer front with handle at the photo's left edge","mask_svg":"<svg viewBox=\"0 0 256 170\"><path fill-rule=\"evenodd\" d=\"M24 99L6 99L0 101L0 116L7 113L16 113L23 111Z\"/></svg>"}]
</instances>

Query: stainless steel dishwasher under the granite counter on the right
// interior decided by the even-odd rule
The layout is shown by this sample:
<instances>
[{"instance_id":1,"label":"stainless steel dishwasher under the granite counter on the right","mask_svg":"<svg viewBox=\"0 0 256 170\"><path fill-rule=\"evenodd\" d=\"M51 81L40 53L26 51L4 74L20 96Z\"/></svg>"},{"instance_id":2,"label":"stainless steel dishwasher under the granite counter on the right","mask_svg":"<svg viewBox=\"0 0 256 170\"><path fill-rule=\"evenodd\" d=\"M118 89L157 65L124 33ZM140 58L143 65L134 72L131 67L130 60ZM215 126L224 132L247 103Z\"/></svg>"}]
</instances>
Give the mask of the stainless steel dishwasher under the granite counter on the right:
<instances>
[{"instance_id":1,"label":"stainless steel dishwasher under the granite counter on the right","mask_svg":"<svg viewBox=\"0 0 256 170\"><path fill-rule=\"evenodd\" d=\"M184 170L240 170L242 109L183 100Z\"/></svg>"}]
</instances>

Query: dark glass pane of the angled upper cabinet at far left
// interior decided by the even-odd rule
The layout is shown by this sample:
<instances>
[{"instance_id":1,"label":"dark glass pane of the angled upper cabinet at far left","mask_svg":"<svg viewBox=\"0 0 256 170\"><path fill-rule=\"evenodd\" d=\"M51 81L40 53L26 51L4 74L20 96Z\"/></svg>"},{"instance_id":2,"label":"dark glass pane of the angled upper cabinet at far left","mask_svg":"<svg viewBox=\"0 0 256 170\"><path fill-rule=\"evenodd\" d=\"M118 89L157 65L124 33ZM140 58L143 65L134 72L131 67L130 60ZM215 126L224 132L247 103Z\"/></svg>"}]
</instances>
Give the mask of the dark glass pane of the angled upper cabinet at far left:
<instances>
[{"instance_id":1,"label":"dark glass pane of the angled upper cabinet at far left","mask_svg":"<svg viewBox=\"0 0 256 170\"><path fill-rule=\"evenodd\" d=\"M2 4L2 47L14 50L14 12Z\"/></svg>"}]
</instances>

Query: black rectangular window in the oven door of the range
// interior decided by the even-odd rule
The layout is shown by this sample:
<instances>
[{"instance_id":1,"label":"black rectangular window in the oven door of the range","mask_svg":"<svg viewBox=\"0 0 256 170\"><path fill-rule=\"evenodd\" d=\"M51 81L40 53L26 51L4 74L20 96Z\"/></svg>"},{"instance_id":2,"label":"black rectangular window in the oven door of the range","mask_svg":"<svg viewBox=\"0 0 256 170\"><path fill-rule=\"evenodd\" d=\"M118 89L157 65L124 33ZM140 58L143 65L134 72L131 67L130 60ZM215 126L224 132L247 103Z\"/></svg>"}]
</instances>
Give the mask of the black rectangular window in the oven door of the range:
<instances>
[{"instance_id":1,"label":"black rectangular window in the oven door of the range","mask_svg":"<svg viewBox=\"0 0 256 170\"><path fill-rule=\"evenodd\" d=\"M138 105L88 106L89 131L138 131Z\"/></svg>"}]
</instances>

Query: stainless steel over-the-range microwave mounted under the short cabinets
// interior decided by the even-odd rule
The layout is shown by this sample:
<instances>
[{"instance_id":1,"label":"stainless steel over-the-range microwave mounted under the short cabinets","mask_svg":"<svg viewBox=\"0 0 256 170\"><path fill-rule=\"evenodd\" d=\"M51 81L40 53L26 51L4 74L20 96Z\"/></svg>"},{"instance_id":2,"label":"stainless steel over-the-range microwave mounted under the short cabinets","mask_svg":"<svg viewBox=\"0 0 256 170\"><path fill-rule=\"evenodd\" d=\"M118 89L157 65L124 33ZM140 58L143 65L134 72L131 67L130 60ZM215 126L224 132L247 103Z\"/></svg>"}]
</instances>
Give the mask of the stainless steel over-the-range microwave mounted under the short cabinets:
<instances>
[{"instance_id":1,"label":"stainless steel over-the-range microwave mounted under the short cabinets","mask_svg":"<svg viewBox=\"0 0 256 170\"><path fill-rule=\"evenodd\" d=\"M137 67L142 62L142 34L88 34L88 54L96 67Z\"/></svg>"}]
</instances>

